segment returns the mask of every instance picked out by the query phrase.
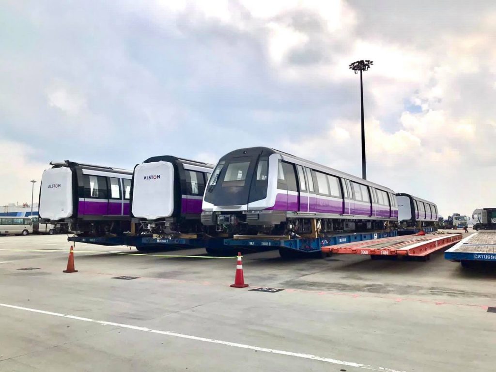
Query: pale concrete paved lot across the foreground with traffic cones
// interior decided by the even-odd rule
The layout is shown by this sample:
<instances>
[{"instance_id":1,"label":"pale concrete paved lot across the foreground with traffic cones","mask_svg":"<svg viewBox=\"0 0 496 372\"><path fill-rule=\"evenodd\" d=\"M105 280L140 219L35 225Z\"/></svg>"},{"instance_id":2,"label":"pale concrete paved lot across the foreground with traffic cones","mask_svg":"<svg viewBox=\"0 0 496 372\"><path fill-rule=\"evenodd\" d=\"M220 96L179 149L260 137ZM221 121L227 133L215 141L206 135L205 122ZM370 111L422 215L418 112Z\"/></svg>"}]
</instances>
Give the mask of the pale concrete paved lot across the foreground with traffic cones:
<instances>
[{"instance_id":1,"label":"pale concrete paved lot across the foreground with traffic cones","mask_svg":"<svg viewBox=\"0 0 496 372\"><path fill-rule=\"evenodd\" d=\"M496 270L0 237L0 371L494 371ZM82 251L96 251L83 253ZM36 268L19 270L21 268ZM133 276L137 279L113 279ZM284 289L277 293L257 287Z\"/></svg>"}]
</instances>

